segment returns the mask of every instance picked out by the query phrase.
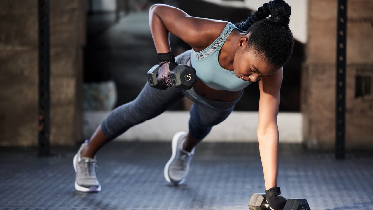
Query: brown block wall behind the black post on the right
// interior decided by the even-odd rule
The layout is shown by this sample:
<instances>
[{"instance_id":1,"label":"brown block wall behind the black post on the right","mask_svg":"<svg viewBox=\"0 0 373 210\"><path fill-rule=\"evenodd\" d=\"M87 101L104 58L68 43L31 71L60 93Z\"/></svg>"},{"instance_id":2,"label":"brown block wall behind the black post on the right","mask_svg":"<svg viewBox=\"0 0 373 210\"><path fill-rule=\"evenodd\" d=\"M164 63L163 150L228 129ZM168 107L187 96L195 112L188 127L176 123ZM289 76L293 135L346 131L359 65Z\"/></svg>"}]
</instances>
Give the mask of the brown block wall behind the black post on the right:
<instances>
[{"instance_id":1,"label":"brown block wall behind the black post on the right","mask_svg":"<svg viewBox=\"0 0 373 210\"><path fill-rule=\"evenodd\" d=\"M304 140L313 149L333 149L335 145L336 8L337 0L309 1L301 106ZM373 149L372 97L355 97L355 76L373 78L372 11L371 0L348 1L347 150Z\"/></svg>"}]
</instances>

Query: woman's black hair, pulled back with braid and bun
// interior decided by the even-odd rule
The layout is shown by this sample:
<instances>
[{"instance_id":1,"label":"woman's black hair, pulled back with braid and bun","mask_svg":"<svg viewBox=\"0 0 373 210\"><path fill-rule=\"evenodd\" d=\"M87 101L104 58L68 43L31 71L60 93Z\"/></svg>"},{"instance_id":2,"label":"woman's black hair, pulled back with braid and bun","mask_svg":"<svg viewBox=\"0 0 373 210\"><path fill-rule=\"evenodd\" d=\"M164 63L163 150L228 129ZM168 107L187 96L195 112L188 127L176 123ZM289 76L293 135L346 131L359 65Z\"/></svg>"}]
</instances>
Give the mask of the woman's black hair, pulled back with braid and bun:
<instances>
[{"instance_id":1,"label":"woman's black hair, pulled back with braid and bun","mask_svg":"<svg viewBox=\"0 0 373 210\"><path fill-rule=\"evenodd\" d=\"M259 7L245 21L235 25L250 33L246 49L253 49L257 56L269 64L282 67L290 58L294 46L289 29L290 15L289 4L283 0L272 0Z\"/></svg>"}]
</instances>

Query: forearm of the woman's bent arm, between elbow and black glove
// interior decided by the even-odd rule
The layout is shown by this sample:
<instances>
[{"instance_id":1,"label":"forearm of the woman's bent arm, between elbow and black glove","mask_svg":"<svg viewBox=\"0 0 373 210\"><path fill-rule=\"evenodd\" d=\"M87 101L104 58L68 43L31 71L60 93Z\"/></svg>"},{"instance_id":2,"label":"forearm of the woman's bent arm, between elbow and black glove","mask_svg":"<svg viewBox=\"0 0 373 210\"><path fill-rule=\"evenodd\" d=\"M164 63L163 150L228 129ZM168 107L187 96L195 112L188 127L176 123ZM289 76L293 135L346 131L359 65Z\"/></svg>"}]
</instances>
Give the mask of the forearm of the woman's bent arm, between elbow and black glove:
<instances>
[{"instance_id":1,"label":"forearm of the woman's bent arm, between elbow and black glove","mask_svg":"<svg viewBox=\"0 0 373 210\"><path fill-rule=\"evenodd\" d=\"M169 31L164 26L160 13L162 13L162 4L154 4L149 11L149 25L151 36L157 53L166 53L171 51Z\"/></svg>"}]
</instances>

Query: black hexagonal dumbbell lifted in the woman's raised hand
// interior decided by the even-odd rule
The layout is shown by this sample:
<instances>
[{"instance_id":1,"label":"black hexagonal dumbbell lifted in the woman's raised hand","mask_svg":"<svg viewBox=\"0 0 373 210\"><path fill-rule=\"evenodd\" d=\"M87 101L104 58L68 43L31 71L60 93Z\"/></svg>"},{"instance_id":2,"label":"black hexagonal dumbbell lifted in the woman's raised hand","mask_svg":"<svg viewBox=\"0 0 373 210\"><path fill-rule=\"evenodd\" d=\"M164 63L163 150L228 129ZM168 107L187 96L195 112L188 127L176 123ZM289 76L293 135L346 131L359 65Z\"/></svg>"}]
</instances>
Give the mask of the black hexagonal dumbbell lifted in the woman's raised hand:
<instances>
[{"instance_id":1,"label":"black hexagonal dumbbell lifted in the woman's raised hand","mask_svg":"<svg viewBox=\"0 0 373 210\"><path fill-rule=\"evenodd\" d=\"M166 89L167 86L159 84L157 80L159 66L154 65L148 71L148 82L151 87L157 89ZM172 87L178 87L189 90L197 82L197 74L195 69L187 65L179 64L171 71Z\"/></svg>"}]
</instances>

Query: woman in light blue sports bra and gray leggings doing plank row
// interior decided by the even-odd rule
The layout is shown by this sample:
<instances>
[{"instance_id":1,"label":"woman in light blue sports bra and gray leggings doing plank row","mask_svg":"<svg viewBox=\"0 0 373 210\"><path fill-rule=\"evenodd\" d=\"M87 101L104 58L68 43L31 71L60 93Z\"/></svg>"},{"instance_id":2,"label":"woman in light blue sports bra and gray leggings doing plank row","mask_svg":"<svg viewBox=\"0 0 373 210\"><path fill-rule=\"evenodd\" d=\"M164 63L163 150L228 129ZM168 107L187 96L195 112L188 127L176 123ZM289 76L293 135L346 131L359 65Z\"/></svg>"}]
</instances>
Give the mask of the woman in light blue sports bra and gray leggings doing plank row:
<instances>
[{"instance_id":1,"label":"woman in light blue sports bra and gray leggings doing plank row","mask_svg":"<svg viewBox=\"0 0 373 210\"><path fill-rule=\"evenodd\" d=\"M159 90L145 84L134 101L113 110L74 157L75 188L85 192L100 191L94 171L94 155L98 149L186 96L194 102L190 110L189 132L178 132L173 136L172 157L164 167L165 179L181 184L188 174L195 145L207 136L212 126L228 117L244 87L258 82L257 135L267 202L275 210L282 209L286 199L280 196L277 187L277 114L282 66L291 56L294 45L288 27L290 14L291 7L285 1L273 0L259 7L246 21L233 25L226 21L191 17L164 4L151 6L150 30L159 53L159 82L172 86L170 71L178 64L194 67L198 81L190 90L175 87ZM181 38L192 50L174 58L170 52L169 33ZM159 129L167 129L167 125L161 125Z\"/></svg>"}]
</instances>

